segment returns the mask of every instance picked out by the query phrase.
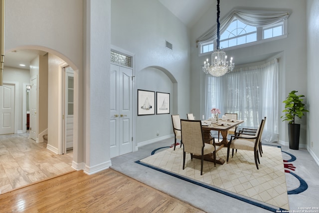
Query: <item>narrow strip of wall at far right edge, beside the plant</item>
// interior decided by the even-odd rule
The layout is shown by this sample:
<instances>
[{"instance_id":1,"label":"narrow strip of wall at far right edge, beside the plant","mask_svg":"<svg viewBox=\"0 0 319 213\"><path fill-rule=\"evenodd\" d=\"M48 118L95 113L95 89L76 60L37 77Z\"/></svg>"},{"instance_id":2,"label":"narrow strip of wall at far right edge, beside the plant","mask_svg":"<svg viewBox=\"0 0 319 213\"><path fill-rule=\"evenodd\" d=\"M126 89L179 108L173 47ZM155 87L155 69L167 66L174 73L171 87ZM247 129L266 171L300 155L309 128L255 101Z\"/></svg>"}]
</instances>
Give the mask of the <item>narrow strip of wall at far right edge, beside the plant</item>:
<instances>
[{"instance_id":1,"label":"narrow strip of wall at far right edge, beside the plant","mask_svg":"<svg viewBox=\"0 0 319 213\"><path fill-rule=\"evenodd\" d=\"M319 164L319 71L318 71L318 49L319 49L319 0L307 0L307 62L308 62L308 99L306 106L309 109L307 120L308 151Z\"/></svg>"}]
</instances>

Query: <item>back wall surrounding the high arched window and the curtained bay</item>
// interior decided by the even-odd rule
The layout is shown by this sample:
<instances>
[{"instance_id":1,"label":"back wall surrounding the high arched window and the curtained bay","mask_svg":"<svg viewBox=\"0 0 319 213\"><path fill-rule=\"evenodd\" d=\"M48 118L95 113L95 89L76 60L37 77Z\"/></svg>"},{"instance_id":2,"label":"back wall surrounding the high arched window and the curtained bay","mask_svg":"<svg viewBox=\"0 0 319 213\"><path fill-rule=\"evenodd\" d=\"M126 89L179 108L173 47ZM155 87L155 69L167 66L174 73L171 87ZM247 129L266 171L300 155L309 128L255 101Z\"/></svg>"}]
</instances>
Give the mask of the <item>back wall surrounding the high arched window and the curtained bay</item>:
<instances>
[{"instance_id":1,"label":"back wall surrounding the high arched window and the curtained bay","mask_svg":"<svg viewBox=\"0 0 319 213\"><path fill-rule=\"evenodd\" d=\"M252 9L273 9L291 11L288 19L289 35L285 39L280 39L272 42L262 43L249 47L242 47L235 50L226 51L228 55L234 57L235 67L240 64L236 58L254 57L256 55L281 53L280 58L280 94L279 94L279 110L284 109L284 104L281 103L292 90L299 91L299 94L307 96L307 71L306 71L306 1L301 0L223 0L220 3L220 20L235 7L252 8ZM194 25L191 31L191 87L194 88L191 93L191 109L195 115L201 115L204 112L205 89L199 85L204 85L204 74L201 71L203 61L207 56L198 57L198 49L196 48L196 39L203 34L209 27L216 24L216 5L213 5L208 12ZM200 73L200 74L198 74ZM196 95L197 94L197 95ZM200 94L200 95L198 95ZM200 109L200 110L199 110ZM279 141L288 144L288 125L287 122L279 120ZM307 142L307 116L301 121L301 147L306 147Z\"/></svg>"}]
</instances>

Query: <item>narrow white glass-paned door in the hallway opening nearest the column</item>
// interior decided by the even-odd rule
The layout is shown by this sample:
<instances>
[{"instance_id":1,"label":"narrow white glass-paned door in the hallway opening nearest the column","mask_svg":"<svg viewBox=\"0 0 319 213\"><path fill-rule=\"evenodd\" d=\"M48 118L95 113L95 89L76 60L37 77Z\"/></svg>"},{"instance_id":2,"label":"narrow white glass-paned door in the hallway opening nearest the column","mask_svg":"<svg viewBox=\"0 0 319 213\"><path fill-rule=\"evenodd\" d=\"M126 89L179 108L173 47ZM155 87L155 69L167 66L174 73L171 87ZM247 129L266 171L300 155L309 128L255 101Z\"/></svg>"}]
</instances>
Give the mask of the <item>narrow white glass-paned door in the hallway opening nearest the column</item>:
<instances>
[{"instance_id":1,"label":"narrow white glass-paned door in the hallway opening nearest the column","mask_svg":"<svg viewBox=\"0 0 319 213\"><path fill-rule=\"evenodd\" d=\"M74 71L70 66L65 67L65 153L73 148L73 94Z\"/></svg>"}]
</instances>

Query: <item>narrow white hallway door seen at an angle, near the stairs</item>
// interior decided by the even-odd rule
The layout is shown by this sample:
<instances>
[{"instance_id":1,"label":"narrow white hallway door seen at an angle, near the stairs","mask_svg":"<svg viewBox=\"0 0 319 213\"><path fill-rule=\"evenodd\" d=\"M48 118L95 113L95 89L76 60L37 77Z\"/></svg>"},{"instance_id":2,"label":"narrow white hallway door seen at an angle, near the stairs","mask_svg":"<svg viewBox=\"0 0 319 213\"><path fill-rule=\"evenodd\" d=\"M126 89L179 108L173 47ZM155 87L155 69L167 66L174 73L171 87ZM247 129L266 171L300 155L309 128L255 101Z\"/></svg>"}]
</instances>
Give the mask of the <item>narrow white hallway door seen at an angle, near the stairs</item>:
<instances>
[{"instance_id":1,"label":"narrow white hallway door seen at an angle, near the stairs","mask_svg":"<svg viewBox=\"0 0 319 213\"><path fill-rule=\"evenodd\" d=\"M38 141L38 120L37 120L37 76L31 79L30 89L30 138Z\"/></svg>"}]
</instances>

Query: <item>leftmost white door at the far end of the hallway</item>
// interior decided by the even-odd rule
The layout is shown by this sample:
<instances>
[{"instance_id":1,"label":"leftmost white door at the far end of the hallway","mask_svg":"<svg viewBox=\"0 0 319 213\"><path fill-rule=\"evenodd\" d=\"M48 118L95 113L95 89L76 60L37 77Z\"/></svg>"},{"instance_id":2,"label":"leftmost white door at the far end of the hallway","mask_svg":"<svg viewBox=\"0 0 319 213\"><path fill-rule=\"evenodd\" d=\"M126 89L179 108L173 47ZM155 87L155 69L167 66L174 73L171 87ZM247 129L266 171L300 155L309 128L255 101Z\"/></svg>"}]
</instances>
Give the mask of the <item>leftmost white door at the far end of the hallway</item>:
<instances>
[{"instance_id":1,"label":"leftmost white door at the far end of the hallway","mask_svg":"<svg viewBox=\"0 0 319 213\"><path fill-rule=\"evenodd\" d=\"M14 85L0 86L0 135L14 133Z\"/></svg>"}]
</instances>

